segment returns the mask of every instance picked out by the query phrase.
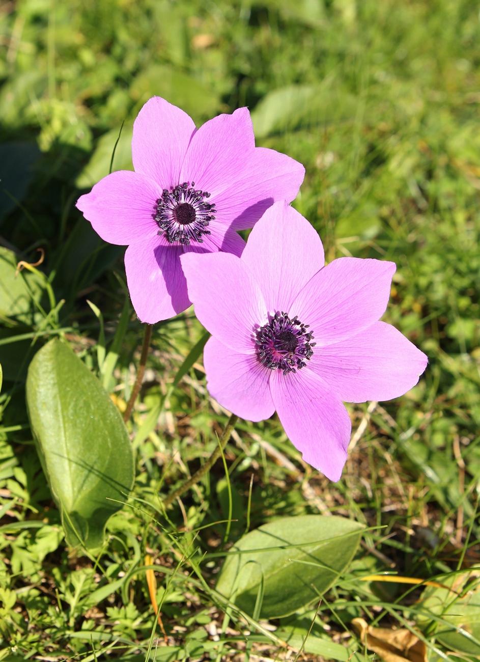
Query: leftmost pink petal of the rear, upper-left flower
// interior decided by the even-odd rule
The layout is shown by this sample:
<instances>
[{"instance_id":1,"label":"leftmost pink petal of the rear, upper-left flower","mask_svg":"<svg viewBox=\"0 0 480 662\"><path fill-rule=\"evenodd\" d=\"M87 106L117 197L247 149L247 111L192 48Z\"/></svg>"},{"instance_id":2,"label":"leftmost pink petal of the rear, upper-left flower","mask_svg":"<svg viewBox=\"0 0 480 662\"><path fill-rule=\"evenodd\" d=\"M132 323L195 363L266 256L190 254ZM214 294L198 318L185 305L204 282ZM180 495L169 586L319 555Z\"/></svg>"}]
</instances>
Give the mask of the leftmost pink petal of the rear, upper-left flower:
<instances>
[{"instance_id":1,"label":"leftmost pink petal of the rear, upper-left flower","mask_svg":"<svg viewBox=\"0 0 480 662\"><path fill-rule=\"evenodd\" d=\"M119 170L79 197L77 208L102 239L126 246L158 232L154 211L160 195L162 187L150 177Z\"/></svg>"}]
</instances>

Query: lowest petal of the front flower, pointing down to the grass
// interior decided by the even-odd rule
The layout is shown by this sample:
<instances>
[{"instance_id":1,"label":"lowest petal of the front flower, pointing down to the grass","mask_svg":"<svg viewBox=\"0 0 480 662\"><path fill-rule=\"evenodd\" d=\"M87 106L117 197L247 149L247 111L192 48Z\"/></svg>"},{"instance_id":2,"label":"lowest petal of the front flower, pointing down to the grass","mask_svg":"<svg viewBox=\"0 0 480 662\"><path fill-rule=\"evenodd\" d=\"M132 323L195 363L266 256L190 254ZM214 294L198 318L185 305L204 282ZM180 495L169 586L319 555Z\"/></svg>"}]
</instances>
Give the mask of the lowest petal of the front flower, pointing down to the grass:
<instances>
[{"instance_id":1,"label":"lowest petal of the front flower, pointing down to the grass","mask_svg":"<svg viewBox=\"0 0 480 662\"><path fill-rule=\"evenodd\" d=\"M272 373L271 397L287 437L312 467L340 480L352 431L344 404L308 368Z\"/></svg>"}]
</instances>

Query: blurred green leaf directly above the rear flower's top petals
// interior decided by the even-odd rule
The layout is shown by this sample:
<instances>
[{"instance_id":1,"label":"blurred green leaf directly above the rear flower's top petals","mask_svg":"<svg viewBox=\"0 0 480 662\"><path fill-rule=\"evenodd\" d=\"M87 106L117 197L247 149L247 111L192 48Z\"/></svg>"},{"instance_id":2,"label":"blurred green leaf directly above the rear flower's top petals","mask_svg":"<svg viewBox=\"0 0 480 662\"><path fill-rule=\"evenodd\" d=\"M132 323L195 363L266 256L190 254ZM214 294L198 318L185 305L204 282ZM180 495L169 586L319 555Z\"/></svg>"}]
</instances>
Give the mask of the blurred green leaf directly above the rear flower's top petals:
<instances>
[{"instance_id":1,"label":"blurred green leaf directly above the rear flower's top petals","mask_svg":"<svg viewBox=\"0 0 480 662\"><path fill-rule=\"evenodd\" d=\"M140 73L130 87L130 94L141 103L154 95L163 97L197 122L215 115L220 106L218 95L210 87L188 73L161 64Z\"/></svg>"}]
</instances>

